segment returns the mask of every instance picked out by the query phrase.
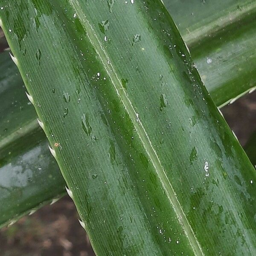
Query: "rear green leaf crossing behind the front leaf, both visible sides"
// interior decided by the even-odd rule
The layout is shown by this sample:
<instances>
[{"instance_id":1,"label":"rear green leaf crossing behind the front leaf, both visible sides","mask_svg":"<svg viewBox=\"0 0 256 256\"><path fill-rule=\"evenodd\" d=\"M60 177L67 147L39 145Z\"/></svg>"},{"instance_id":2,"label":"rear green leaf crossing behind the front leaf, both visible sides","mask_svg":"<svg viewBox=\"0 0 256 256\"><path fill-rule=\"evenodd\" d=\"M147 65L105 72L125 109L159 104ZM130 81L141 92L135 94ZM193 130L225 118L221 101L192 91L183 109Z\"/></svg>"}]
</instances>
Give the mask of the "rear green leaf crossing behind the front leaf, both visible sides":
<instances>
[{"instance_id":1,"label":"rear green leaf crossing behind the front leaf, both visible sides","mask_svg":"<svg viewBox=\"0 0 256 256\"><path fill-rule=\"evenodd\" d=\"M214 3L207 2L207 5L199 1L182 3L167 0L165 2L181 35L189 44L193 60L215 104L227 103L230 100L233 102L242 94L248 91L252 92L255 89L253 86L255 86L256 80L256 62L253 57L256 41L254 38L256 19L253 18L255 4L250 0L240 2L232 0L229 3L215 1ZM214 36L213 33L216 32L217 34ZM213 36L214 42L212 41ZM206 40L207 38L209 39ZM58 166L52 163L48 152L42 148L44 143L41 143L40 131L35 135L37 137L35 141L33 141L34 137L30 137L33 139L31 143L26 141L26 148L22 152L20 147L5 146L6 142L11 143L17 137L13 137L13 134L23 136L24 131L29 132L26 129L27 126L34 127L37 132L32 106L27 105L27 100L23 97L25 96L23 88L21 88L22 82L20 82L20 77L14 67L15 64L10 63L6 55L7 53L3 53L0 56L0 70L4 75L0 78L0 86L6 87L6 92L3 92L3 88L1 88L0 96L1 113L3 113L0 116L3 117L0 122L2 140L0 142L2 157L0 172L5 177L0 186L0 204L6 206L0 208L0 227L13 223L26 213L34 212L35 209L44 205L44 202L56 201L60 192L64 192L65 184ZM238 68L233 68L230 64L231 60ZM8 72L6 72L6 68L8 68ZM13 88L12 85L15 82L20 84ZM3 108L5 102L8 102L6 109ZM12 131L12 128L15 128L15 131ZM20 133L20 131L22 132ZM40 151L38 151L38 145L40 145ZM38 162L38 157L40 157L42 160L39 160L40 167L20 165L28 152L31 163ZM51 164L48 165L49 163ZM18 173L18 179L17 165L22 168ZM27 171L28 168L29 171ZM17 186L17 184L23 184L22 180L27 179L28 172L30 178L26 185ZM13 183L14 176L15 182ZM42 182L43 180L44 182Z\"/></svg>"}]
</instances>

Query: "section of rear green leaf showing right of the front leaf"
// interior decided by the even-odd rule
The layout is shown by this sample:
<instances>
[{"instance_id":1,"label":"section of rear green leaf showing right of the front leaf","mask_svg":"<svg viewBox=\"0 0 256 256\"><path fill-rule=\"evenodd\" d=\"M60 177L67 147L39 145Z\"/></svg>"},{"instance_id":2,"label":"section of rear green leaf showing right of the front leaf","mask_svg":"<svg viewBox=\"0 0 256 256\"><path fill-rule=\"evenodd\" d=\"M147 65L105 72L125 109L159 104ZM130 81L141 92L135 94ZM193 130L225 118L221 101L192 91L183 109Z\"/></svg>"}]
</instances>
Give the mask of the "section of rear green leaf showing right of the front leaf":
<instances>
[{"instance_id":1,"label":"section of rear green leaf showing right of the front leaf","mask_svg":"<svg viewBox=\"0 0 256 256\"><path fill-rule=\"evenodd\" d=\"M256 89L254 0L164 0L218 106Z\"/></svg>"}]
</instances>

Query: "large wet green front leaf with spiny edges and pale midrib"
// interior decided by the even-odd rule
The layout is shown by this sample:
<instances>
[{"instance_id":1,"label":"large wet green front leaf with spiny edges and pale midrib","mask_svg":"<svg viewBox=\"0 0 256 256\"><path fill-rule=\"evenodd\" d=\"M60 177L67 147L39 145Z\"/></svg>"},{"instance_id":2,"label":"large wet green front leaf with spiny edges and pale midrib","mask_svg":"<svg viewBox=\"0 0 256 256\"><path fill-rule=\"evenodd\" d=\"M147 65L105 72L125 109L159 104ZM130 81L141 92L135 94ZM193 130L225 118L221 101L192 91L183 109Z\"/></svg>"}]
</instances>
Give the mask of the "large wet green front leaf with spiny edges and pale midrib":
<instances>
[{"instance_id":1,"label":"large wet green front leaf with spiny edges and pale midrib","mask_svg":"<svg viewBox=\"0 0 256 256\"><path fill-rule=\"evenodd\" d=\"M254 168L159 1L0 3L97 254L253 255Z\"/></svg>"}]
</instances>

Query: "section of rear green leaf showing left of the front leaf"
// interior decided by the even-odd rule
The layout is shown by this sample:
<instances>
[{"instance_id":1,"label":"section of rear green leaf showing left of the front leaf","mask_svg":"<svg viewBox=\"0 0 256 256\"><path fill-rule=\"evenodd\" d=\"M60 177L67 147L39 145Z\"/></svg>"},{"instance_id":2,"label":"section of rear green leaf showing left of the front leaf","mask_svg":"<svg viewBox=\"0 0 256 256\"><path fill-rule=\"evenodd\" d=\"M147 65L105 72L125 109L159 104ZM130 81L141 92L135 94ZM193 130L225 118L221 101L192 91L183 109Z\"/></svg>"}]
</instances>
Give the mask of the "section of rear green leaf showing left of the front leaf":
<instances>
[{"instance_id":1,"label":"section of rear green leaf showing left of the front leaf","mask_svg":"<svg viewBox=\"0 0 256 256\"><path fill-rule=\"evenodd\" d=\"M9 52L0 54L0 227L64 194L64 180L47 149ZM29 104L28 104L29 103Z\"/></svg>"}]
</instances>

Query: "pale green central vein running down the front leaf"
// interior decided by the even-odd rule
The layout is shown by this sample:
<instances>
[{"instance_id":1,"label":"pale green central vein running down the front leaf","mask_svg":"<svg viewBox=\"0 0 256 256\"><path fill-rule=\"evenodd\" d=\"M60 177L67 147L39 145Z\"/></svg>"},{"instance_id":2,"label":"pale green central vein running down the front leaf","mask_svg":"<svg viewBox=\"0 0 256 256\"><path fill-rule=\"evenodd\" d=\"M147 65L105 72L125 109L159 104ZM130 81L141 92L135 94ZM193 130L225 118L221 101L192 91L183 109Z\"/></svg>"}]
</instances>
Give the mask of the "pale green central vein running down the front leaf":
<instances>
[{"instance_id":1,"label":"pale green central vein running down the front leaf","mask_svg":"<svg viewBox=\"0 0 256 256\"><path fill-rule=\"evenodd\" d=\"M76 0L75 0L76 1ZM108 54L105 51L105 49L102 47L102 44L99 40L99 38L96 35L96 32L93 30L93 27L90 25L89 21L85 17L83 13L81 13L81 9L79 8L79 3L76 1L76 4L74 3L74 0L70 0L71 5L76 10L79 19L81 20L81 23L84 26L84 29L87 31L88 39L90 40L90 43L95 47L96 53L99 55L100 60L102 61L103 67L105 68L106 72L108 73L108 76L111 79L111 82L116 90L116 93L122 102L122 104L125 107L125 110L127 111L128 115L131 118L131 121L134 124L134 128L137 131L137 134L140 137L140 140L143 144L143 147L145 151L148 154L148 157L151 160L151 163L153 164L158 177L160 178L160 182L163 186L163 189L166 192L166 195L169 199L169 202L171 203L176 215L177 219L180 223L180 225L183 227L184 233L186 234L189 243L195 253L195 255L203 256L203 250L201 248L201 245L199 244L195 233L192 230L192 227L189 224L189 221L186 218L185 213L183 212L183 209L180 205L180 202L176 196L176 193L172 187L172 184L166 175L166 172L159 160L159 157L157 156L157 152L153 148L153 145L148 137L147 132L145 131L145 128L143 127L142 122L140 121L139 116L137 115L130 99L128 98L124 88L122 87L122 82L119 79L113 65L108 61ZM84 19L81 18L81 15L84 16ZM112 70L112 72L111 72Z\"/></svg>"}]
</instances>

